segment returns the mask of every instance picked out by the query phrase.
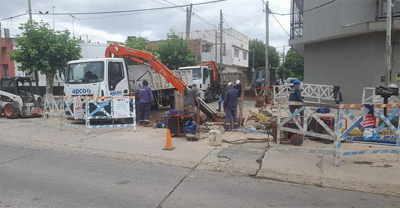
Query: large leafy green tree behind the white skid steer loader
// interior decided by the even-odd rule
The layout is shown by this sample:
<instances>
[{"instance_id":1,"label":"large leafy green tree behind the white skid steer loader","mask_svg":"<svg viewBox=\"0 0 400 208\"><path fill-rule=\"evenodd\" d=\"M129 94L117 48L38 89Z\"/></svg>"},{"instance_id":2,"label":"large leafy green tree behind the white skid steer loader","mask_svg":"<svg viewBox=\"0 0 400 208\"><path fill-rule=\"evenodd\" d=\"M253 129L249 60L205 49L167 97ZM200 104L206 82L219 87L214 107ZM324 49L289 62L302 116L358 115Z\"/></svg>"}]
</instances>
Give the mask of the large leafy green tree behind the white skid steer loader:
<instances>
[{"instance_id":1,"label":"large leafy green tree behind the white skid steer loader","mask_svg":"<svg viewBox=\"0 0 400 208\"><path fill-rule=\"evenodd\" d=\"M55 74L64 73L68 61L81 57L78 41L70 37L68 29L54 31L43 21L28 21L18 28L22 30L18 49L10 52L10 58L21 64L18 69L23 72L44 74L46 93L52 94Z\"/></svg>"}]
</instances>

